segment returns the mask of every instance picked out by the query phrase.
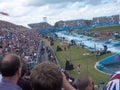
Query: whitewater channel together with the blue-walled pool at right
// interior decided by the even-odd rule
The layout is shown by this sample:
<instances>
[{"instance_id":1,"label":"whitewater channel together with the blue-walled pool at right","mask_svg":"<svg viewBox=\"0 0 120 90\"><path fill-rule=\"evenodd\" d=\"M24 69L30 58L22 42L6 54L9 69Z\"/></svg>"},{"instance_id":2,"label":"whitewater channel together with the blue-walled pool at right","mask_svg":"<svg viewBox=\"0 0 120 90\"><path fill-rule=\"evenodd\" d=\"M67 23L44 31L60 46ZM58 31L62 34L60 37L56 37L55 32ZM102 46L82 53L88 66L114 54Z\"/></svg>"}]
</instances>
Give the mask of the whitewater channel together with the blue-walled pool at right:
<instances>
[{"instance_id":1,"label":"whitewater channel together with the blue-walled pool at right","mask_svg":"<svg viewBox=\"0 0 120 90\"><path fill-rule=\"evenodd\" d=\"M115 54L97 62L95 68L106 74L112 74L113 72L120 70L120 41L112 39L102 41L100 39L78 35L76 33L70 34L68 32L58 32L56 34L60 39L64 38L68 42L74 40L78 45L82 43L84 44L84 48L87 48L90 51L103 50L103 45L106 45L108 47L107 51Z\"/></svg>"}]
</instances>

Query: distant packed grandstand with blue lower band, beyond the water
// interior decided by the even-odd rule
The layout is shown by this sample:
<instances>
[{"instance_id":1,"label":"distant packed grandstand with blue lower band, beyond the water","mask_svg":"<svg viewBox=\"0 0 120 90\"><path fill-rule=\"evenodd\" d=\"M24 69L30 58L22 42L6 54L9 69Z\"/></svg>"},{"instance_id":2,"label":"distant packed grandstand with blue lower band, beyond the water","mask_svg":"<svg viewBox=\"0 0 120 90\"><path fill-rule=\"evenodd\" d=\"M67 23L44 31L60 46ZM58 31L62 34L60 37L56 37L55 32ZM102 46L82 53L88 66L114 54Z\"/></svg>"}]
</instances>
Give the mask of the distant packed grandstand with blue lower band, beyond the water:
<instances>
[{"instance_id":1,"label":"distant packed grandstand with blue lower band, beyond the water","mask_svg":"<svg viewBox=\"0 0 120 90\"><path fill-rule=\"evenodd\" d=\"M32 29L37 30L40 34L47 34L50 32L57 31L66 31L73 29L82 29L89 30L89 28L98 28L105 26L114 26L119 25L120 23L120 15L112 15L112 16L102 16L102 17L94 17L92 20L66 20L66 21L58 21L54 26L50 25L47 22L28 24Z\"/></svg>"}]
</instances>

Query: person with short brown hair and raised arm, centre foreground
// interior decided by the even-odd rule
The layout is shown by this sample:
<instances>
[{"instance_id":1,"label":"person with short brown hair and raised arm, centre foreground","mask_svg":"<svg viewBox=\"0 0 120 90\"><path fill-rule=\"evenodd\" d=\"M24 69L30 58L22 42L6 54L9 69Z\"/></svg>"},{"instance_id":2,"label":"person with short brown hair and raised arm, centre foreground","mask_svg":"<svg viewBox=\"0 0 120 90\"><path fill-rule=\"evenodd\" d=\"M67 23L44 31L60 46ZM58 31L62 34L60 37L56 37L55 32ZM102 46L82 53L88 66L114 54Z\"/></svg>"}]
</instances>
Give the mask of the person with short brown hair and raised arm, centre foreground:
<instances>
[{"instance_id":1,"label":"person with short brown hair and raised arm, centre foreground","mask_svg":"<svg viewBox=\"0 0 120 90\"><path fill-rule=\"evenodd\" d=\"M42 62L31 71L31 84L34 90L75 90L66 76L52 62Z\"/></svg>"}]
</instances>

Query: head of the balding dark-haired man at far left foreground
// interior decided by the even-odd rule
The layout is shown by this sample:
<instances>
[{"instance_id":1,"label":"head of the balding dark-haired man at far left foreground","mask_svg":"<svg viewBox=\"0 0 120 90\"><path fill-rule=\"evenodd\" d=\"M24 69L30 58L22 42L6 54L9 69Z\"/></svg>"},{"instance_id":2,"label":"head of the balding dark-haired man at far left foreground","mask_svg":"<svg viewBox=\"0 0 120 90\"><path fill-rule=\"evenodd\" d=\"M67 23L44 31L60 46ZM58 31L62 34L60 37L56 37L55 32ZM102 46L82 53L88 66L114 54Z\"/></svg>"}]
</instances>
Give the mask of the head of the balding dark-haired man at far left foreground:
<instances>
[{"instance_id":1,"label":"head of the balding dark-haired man at far left foreground","mask_svg":"<svg viewBox=\"0 0 120 90\"><path fill-rule=\"evenodd\" d=\"M2 76L13 76L16 74L20 66L20 58L15 54L8 54L0 63L0 71Z\"/></svg>"}]
</instances>

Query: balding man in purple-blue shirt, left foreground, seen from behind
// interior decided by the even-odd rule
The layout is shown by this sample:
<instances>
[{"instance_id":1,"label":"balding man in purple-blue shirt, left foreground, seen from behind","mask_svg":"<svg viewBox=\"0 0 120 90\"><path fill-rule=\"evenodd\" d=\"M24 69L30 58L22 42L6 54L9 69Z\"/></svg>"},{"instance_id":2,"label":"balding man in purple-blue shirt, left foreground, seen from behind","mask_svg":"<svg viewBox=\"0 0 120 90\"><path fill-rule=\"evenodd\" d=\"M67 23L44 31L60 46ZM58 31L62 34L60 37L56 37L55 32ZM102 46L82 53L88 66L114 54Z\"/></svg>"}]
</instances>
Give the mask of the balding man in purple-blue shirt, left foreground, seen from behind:
<instances>
[{"instance_id":1,"label":"balding man in purple-blue shirt, left foreground, seen from behind","mask_svg":"<svg viewBox=\"0 0 120 90\"><path fill-rule=\"evenodd\" d=\"M1 90L22 90L16 83L21 75L20 58L15 54L6 55L0 63L2 81Z\"/></svg>"}]
</instances>

